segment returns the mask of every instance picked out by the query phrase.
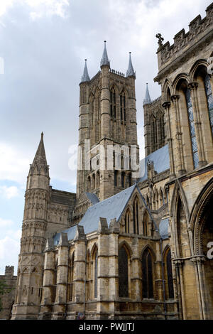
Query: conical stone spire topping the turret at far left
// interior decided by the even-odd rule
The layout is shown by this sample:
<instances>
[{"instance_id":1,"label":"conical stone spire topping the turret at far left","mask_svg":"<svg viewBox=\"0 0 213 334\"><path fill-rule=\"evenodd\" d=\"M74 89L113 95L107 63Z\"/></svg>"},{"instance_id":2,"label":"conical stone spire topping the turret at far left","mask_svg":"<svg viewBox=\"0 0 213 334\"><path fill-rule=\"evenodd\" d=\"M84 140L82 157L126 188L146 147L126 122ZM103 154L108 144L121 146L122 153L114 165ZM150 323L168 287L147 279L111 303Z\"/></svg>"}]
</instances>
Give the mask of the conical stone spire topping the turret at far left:
<instances>
[{"instance_id":1,"label":"conical stone spire topping the turret at far left","mask_svg":"<svg viewBox=\"0 0 213 334\"><path fill-rule=\"evenodd\" d=\"M45 147L43 144L43 132L41 132L40 135L40 143L35 153L33 163L31 164L30 173L33 173L35 167L37 168L38 172L40 172L40 170L43 168L44 171L48 173L48 163L45 155Z\"/></svg>"}]
</instances>

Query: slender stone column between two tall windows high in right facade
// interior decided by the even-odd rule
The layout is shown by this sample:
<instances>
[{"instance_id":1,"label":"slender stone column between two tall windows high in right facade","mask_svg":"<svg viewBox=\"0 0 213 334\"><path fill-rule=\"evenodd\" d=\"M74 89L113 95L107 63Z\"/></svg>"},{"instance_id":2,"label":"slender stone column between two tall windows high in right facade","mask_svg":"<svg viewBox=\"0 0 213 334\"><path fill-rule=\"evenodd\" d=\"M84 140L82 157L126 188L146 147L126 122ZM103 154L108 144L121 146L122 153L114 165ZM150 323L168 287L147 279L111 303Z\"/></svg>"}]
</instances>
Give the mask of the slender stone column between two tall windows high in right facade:
<instances>
[{"instance_id":1,"label":"slender stone column between two tall windows high in right facade","mask_svg":"<svg viewBox=\"0 0 213 334\"><path fill-rule=\"evenodd\" d=\"M193 115L194 115L194 122L195 122L195 134L197 139L197 151L199 156L199 167L202 167L207 164L205 153L204 153L204 142L202 139L202 126L201 126L201 119L200 119L200 112L198 108L197 102L197 82L190 82L188 87L191 92L192 98L192 107L193 107Z\"/></svg>"}]
</instances>

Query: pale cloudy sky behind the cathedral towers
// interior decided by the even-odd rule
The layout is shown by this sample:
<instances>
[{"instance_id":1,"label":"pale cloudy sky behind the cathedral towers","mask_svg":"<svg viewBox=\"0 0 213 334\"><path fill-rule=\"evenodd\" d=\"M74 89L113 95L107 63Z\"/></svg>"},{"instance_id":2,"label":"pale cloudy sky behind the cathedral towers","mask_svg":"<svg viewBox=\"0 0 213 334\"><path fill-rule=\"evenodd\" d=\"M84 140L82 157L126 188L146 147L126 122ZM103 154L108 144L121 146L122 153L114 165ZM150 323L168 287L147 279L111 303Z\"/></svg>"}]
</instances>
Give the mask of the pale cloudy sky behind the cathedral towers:
<instances>
[{"instance_id":1,"label":"pale cloudy sky behind the cathedral towers","mask_svg":"<svg viewBox=\"0 0 213 334\"><path fill-rule=\"evenodd\" d=\"M138 142L143 158L143 97L160 95L156 33L164 42L211 0L0 1L0 274L15 266L29 164L44 132L53 188L75 192L79 82L87 58L99 71L104 40L111 68L136 70ZM4 65L4 66L3 66ZM4 71L3 71L4 70ZM3 73L4 72L4 73Z\"/></svg>"}]
</instances>

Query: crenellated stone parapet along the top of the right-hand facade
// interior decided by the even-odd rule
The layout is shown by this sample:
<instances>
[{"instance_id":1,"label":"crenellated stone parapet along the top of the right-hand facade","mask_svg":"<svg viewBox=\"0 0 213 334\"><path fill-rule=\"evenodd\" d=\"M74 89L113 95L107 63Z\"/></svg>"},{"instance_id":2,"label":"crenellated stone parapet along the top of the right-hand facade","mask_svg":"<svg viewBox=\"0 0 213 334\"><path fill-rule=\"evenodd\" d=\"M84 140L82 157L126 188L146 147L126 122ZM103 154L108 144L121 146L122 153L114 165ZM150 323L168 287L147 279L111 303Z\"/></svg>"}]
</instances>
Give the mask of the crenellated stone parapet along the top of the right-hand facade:
<instances>
[{"instance_id":1,"label":"crenellated stone parapet along the top of the right-hand facade","mask_svg":"<svg viewBox=\"0 0 213 334\"><path fill-rule=\"evenodd\" d=\"M160 45L158 48L158 53L160 53L160 61L158 60L159 70L165 63L171 60L171 58L177 57L179 52L184 52L185 48L188 48L190 44L197 43L197 40L202 38L202 33L212 30L213 3L207 7L206 12L207 16L203 19L198 15L190 22L190 30L187 33L185 33L185 29L179 31L174 37L173 45L170 45L170 42Z\"/></svg>"}]
</instances>

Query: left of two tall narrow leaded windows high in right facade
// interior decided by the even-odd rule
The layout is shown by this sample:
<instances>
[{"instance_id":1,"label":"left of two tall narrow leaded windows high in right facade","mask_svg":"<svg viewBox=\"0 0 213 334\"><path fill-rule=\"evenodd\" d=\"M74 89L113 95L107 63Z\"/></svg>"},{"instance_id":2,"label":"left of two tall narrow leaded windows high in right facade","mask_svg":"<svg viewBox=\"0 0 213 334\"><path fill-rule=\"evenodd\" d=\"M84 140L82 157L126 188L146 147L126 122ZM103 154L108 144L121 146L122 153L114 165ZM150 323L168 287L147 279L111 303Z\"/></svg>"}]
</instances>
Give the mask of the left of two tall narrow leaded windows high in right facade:
<instances>
[{"instance_id":1,"label":"left of two tall narrow leaded windows high in right facade","mask_svg":"<svg viewBox=\"0 0 213 334\"><path fill-rule=\"evenodd\" d=\"M189 88L187 88L185 92L185 98L187 102L187 113L188 113L188 119L190 124L190 137L191 137L191 144L192 144L192 158L193 158L193 164L194 168L197 168L198 166L198 152L197 152L197 139L195 136L195 122L194 122L194 116L193 116L193 108L192 108L192 99Z\"/></svg>"}]
</instances>

